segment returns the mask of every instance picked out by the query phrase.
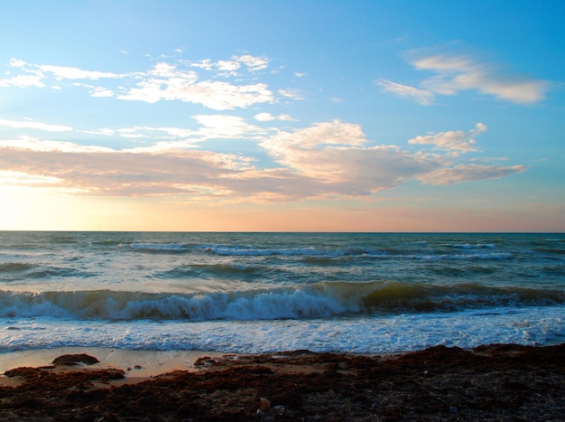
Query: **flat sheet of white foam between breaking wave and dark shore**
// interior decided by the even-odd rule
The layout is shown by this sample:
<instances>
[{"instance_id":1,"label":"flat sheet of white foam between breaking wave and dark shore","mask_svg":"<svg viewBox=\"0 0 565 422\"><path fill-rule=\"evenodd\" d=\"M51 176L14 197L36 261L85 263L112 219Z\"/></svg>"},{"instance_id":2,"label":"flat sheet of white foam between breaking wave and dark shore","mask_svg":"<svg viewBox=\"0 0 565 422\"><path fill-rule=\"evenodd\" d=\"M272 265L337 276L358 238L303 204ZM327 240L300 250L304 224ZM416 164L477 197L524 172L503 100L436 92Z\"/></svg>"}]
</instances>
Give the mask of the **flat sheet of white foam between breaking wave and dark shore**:
<instances>
[{"instance_id":1,"label":"flat sheet of white foam between breaking wave and dark shore","mask_svg":"<svg viewBox=\"0 0 565 422\"><path fill-rule=\"evenodd\" d=\"M275 321L136 321L103 323L54 318L3 321L0 351L88 346L214 352L407 352L443 344L544 344L565 340L562 306L458 313Z\"/></svg>"}]
</instances>

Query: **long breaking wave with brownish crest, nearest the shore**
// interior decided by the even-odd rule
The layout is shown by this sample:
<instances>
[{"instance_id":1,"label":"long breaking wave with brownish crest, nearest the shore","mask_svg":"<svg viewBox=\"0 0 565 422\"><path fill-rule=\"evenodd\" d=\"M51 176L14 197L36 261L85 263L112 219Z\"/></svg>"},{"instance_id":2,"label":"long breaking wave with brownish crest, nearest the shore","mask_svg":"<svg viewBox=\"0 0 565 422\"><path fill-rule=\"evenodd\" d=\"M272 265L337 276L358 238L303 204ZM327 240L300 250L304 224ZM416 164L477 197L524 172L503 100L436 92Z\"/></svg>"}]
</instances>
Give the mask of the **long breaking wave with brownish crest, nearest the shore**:
<instances>
[{"instance_id":1,"label":"long breaking wave with brownish crest, nearest the shore","mask_svg":"<svg viewBox=\"0 0 565 422\"><path fill-rule=\"evenodd\" d=\"M0 317L103 320L275 320L347 314L452 312L496 306L562 305L565 292L477 284L322 282L193 294L130 291L0 291Z\"/></svg>"}]
</instances>

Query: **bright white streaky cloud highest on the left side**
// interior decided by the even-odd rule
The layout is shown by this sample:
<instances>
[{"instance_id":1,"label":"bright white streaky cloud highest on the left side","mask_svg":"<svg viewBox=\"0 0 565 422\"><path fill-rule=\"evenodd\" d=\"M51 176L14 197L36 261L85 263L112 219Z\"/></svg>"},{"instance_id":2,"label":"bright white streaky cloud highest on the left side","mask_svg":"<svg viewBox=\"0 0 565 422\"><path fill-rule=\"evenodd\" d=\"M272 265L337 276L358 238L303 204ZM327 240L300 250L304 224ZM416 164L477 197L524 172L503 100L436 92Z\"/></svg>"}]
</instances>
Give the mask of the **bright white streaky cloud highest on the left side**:
<instances>
[{"instance_id":1,"label":"bright white streaky cloud highest on the left side","mask_svg":"<svg viewBox=\"0 0 565 422\"><path fill-rule=\"evenodd\" d=\"M46 87L62 89L67 80L74 86L87 88L94 98L114 97L121 100L156 103L162 100L180 100L200 104L214 110L247 108L258 103L274 102L273 92L265 83L239 83L202 79L194 70L215 72L216 77L234 77L245 66L248 72L264 70L270 60L249 54L234 56L231 60L211 61L159 61L153 69L142 72L113 73L98 70L81 70L76 67L51 64L32 64L12 59L10 66L21 74L0 80L0 87ZM183 68L182 68L183 67ZM120 87L107 86L104 80L122 80ZM97 81L97 85L78 80Z\"/></svg>"}]
</instances>

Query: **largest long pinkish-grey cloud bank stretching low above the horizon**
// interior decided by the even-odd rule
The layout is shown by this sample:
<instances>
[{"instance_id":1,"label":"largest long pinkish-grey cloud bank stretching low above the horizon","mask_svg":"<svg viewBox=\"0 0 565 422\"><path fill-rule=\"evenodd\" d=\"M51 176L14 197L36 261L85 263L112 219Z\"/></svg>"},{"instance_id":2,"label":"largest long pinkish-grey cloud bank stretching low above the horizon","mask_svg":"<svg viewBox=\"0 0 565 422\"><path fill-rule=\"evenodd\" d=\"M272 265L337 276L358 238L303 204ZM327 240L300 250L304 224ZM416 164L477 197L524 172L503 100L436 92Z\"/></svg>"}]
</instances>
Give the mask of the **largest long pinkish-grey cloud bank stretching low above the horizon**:
<instances>
[{"instance_id":1,"label":"largest long pinkish-grey cloud bank stretching low above the horizon","mask_svg":"<svg viewBox=\"0 0 565 422\"><path fill-rule=\"evenodd\" d=\"M122 136L160 137L153 145L116 150L96 145L20 138L0 141L0 172L55 189L107 196L166 196L171 200L273 202L367 197L409 180L444 185L503 177L527 170L455 161L453 152L471 148L468 133L417 136L438 154L372 145L359 125L339 120L268 132L227 115L193 116L198 130L179 127L116 129ZM105 129L108 134L112 129ZM449 135L451 134L451 135ZM461 135L462 134L462 135ZM207 139L255 139L274 164L264 168L255 156L194 149ZM441 153L445 155L442 155ZM449 157L449 159L448 159ZM6 176L6 180L10 177ZM15 177L15 176L14 176ZM27 177L27 179L26 179ZM48 183L40 183L42 180ZM40 181L40 182L37 182Z\"/></svg>"}]
</instances>

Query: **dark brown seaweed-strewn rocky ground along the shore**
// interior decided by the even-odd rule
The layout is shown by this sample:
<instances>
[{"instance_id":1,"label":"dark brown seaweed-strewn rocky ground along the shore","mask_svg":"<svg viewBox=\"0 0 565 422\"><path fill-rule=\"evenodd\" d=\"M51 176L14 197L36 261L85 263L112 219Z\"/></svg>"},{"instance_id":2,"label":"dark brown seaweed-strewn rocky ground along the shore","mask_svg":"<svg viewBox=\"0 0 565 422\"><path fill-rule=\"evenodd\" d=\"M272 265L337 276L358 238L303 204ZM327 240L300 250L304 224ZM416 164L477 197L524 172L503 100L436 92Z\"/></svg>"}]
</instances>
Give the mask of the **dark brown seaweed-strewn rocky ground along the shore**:
<instances>
[{"instance_id":1,"label":"dark brown seaweed-strewn rocky ground along the shore","mask_svg":"<svg viewBox=\"0 0 565 422\"><path fill-rule=\"evenodd\" d=\"M7 371L0 420L565 420L565 344L226 356L138 383L72 363Z\"/></svg>"}]
</instances>

